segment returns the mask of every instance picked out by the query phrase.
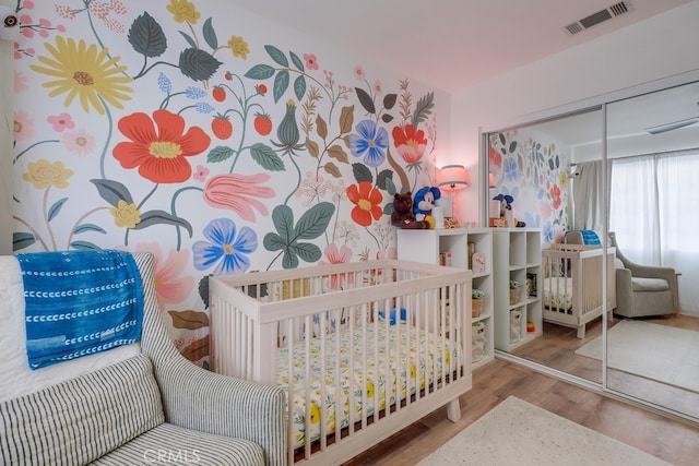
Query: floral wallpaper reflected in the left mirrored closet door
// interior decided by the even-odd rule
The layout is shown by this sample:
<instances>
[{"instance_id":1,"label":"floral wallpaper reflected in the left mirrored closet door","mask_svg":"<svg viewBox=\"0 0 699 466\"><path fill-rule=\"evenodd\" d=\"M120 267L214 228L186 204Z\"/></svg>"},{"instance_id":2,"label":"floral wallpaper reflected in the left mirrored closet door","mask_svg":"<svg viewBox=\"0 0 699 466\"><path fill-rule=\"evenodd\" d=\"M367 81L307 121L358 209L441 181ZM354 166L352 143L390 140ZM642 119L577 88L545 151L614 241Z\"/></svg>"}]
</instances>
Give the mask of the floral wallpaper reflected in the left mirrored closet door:
<instances>
[{"instance_id":1,"label":"floral wallpaper reflected in the left mirrored closet door","mask_svg":"<svg viewBox=\"0 0 699 466\"><path fill-rule=\"evenodd\" d=\"M513 215L528 227L542 229L543 242L562 242L568 230L570 156L560 144L532 130L490 135L493 196L511 195Z\"/></svg>"}]
</instances>

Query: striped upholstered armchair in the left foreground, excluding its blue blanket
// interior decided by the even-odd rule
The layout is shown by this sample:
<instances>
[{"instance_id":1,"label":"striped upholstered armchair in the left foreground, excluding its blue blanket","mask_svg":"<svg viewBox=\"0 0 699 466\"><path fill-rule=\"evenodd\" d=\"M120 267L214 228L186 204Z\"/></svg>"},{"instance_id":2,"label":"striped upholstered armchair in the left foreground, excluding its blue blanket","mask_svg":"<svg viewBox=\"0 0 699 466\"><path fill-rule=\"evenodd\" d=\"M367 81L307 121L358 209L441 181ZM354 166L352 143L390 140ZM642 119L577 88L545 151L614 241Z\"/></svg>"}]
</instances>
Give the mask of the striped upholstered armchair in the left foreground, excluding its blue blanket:
<instances>
[{"instance_id":1,"label":"striped upholstered armchair in the left foreground, excluding its blue blanket","mask_svg":"<svg viewBox=\"0 0 699 466\"><path fill-rule=\"evenodd\" d=\"M153 258L133 258L140 343L29 370L22 272L0 256L0 464L285 464L284 393L187 361L161 320Z\"/></svg>"}]
</instances>

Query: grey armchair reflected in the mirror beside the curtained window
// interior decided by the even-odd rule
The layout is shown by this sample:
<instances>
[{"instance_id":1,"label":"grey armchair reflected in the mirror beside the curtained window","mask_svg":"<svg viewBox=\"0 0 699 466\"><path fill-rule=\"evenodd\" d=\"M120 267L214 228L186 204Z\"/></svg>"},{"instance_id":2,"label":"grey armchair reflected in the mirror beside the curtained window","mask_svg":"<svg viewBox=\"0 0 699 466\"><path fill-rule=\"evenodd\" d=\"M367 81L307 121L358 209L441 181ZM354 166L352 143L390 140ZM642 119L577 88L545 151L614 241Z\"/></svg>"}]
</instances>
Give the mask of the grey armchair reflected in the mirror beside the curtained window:
<instances>
[{"instance_id":1,"label":"grey armchair reflected in the mirror beside the curtained window","mask_svg":"<svg viewBox=\"0 0 699 466\"><path fill-rule=\"evenodd\" d=\"M678 307L677 276L671 267L640 265L629 261L609 231L616 248L616 314L625 318L675 314Z\"/></svg>"}]
</instances>

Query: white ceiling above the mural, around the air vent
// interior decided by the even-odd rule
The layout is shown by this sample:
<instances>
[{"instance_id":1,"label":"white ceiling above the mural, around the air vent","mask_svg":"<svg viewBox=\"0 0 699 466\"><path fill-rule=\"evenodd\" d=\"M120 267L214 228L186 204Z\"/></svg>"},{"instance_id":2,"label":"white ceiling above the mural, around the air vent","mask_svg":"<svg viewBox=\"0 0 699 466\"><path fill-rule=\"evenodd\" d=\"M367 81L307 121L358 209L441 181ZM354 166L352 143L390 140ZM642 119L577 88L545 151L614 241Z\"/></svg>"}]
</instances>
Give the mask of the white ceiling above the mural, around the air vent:
<instances>
[{"instance_id":1,"label":"white ceiling above the mural, around the air vent","mask_svg":"<svg viewBox=\"0 0 699 466\"><path fill-rule=\"evenodd\" d=\"M618 0L227 0L436 88L457 92L694 0L625 0L629 12L565 26Z\"/></svg>"}]
</instances>

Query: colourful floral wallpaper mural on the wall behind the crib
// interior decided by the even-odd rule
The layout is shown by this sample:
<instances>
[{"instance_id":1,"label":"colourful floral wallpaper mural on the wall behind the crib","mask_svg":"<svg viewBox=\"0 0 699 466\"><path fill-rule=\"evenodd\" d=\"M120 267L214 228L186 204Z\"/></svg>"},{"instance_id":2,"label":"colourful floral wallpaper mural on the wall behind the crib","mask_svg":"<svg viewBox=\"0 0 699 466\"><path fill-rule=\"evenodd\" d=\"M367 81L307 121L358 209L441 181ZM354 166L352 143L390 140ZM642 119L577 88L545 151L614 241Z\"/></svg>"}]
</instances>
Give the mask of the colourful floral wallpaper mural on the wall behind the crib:
<instances>
[{"instance_id":1,"label":"colourful floral wallpaper mural on the wall behind the crib","mask_svg":"<svg viewBox=\"0 0 699 466\"><path fill-rule=\"evenodd\" d=\"M209 276L395 255L393 194L434 179L434 91L222 0L15 11L15 251L152 252L203 363Z\"/></svg>"}]
</instances>

